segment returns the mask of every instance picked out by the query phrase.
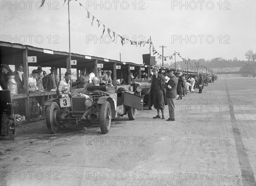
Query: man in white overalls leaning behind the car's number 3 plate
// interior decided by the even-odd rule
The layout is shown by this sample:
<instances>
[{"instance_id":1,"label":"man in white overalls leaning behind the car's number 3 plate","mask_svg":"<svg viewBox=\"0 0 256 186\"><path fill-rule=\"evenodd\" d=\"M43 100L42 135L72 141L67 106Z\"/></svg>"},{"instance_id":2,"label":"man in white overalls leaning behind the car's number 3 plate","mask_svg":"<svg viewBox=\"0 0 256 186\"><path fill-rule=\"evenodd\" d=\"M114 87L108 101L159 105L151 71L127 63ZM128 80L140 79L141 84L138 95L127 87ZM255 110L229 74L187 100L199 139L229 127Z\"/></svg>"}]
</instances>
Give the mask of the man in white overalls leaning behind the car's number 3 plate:
<instances>
[{"instance_id":1,"label":"man in white overalls leaning behind the car's number 3 plate","mask_svg":"<svg viewBox=\"0 0 256 186\"><path fill-rule=\"evenodd\" d=\"M71 97L70 80L71 80L71 73L66 72L63 79L58 83L58 88L57 88L58 98Z\"/></svg>"}]
</instances>

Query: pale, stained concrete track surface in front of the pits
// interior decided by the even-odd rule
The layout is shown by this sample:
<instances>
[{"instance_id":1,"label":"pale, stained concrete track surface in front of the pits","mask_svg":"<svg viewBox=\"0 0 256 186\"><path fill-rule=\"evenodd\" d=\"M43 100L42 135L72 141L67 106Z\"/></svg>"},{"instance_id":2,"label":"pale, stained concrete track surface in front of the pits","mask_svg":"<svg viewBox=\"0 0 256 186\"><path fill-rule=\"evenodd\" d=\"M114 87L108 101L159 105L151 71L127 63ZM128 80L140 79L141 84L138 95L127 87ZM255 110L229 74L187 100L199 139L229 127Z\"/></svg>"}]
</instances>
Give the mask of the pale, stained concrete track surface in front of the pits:
<instances>
[{"instance_id":1,"label":"pale, stained concrete track surface in front of the pits","mask_svg":"<svg viewBox=\"0 0 256 186\"><path fill-rule=\"evenodd\" d=\"M176 121L145 108L104 135L44 126L1 141L1 185L255 186L255 78L229 74L175 104Z\"/></svg>"}]
</instances>

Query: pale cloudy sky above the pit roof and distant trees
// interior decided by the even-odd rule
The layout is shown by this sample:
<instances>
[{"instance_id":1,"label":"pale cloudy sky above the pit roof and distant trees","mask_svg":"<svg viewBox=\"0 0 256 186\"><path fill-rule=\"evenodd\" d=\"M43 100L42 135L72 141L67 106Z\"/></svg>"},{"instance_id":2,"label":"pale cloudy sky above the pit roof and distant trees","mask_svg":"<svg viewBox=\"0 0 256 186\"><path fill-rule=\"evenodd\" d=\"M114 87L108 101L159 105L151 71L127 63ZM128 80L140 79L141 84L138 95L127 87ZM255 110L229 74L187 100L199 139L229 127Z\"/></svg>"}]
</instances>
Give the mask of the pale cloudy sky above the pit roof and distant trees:
<instances>
[{"instance_id":1,"label":"pale cloudy sky above the pit roof and distant trees","mask_svg":"<svg viewBox=\"0 0 256 186\"><path fill-rule=\"evenodd\" d=\"M0 0L0 3L1 41L69 51L67 2L45 0L42 8L39 8L41 0ZM97 19L101 22L99 27ZM103 24L105 33L101 38ZM119 60L121 53L122 62L142 64L142 54L149 53L149 44L140 47L128 42L122 46L120 37L110 42L108 28L112 40L113 31L135 41L151 36L159 54L162 54L159 46L166 46L164 56L176 51L190 59L246 60L245 52L256 51L256 1L71 0L71 52L113 60ZM154 56L157 59L158 55ZM158 63L161 61L157 59Z\"/></svg>"}]
</instances>

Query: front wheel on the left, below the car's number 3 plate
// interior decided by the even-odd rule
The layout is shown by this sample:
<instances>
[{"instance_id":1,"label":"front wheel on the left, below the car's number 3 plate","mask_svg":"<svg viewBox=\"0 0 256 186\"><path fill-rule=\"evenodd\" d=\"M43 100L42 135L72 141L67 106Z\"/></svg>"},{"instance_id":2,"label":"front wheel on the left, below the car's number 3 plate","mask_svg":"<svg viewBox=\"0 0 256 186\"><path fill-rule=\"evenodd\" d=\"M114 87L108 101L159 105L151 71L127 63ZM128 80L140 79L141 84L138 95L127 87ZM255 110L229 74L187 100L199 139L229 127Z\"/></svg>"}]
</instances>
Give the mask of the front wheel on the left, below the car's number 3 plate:
<instances>
[{"instance_id":1,"label":"front wheel on the left, below the car's number 3 plate","mask_svg":"<svg viewBox=\"0 0 256 186\"><path fill-rule=\"evenodd\" d=\"M49 132L52 134L58 133L60 129L60 124L58 123L59 113L60 107L56 102L52 102L46 109L46 124Z\"/></svg>"}]
</instances>

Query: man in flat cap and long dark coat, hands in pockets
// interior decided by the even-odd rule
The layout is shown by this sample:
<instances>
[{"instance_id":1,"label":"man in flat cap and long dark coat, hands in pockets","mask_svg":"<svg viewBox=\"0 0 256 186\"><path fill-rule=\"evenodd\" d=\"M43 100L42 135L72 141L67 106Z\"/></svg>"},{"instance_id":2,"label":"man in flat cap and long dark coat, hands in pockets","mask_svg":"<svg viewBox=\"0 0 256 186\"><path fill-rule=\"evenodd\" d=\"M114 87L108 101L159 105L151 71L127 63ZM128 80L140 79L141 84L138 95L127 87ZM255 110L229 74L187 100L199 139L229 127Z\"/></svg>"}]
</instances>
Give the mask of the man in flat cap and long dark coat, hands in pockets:
<instances>
[{"instance_id":1,"label":"man in flat cap and long dark coat, hands in pockets","mask_svg":"<svg viewBox=\"0 0 256 186\"><path fill-rule=\"evenodd\" d=\"M148 97L148 106L151 106L153 103L154 108L157 109L157 115L153 118L161 118L160 111L162 112L162 119L165 119L164 117L164 97L163 97L163 86L165 84L165 77L162 74L159 74L159 69L157 67L154 67L152 69L152 72L154 75L152 76L152 83L150 87L150 94Z\"/></svg>"}]
</instances>

